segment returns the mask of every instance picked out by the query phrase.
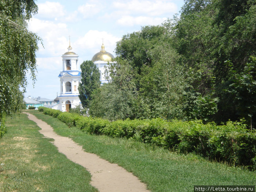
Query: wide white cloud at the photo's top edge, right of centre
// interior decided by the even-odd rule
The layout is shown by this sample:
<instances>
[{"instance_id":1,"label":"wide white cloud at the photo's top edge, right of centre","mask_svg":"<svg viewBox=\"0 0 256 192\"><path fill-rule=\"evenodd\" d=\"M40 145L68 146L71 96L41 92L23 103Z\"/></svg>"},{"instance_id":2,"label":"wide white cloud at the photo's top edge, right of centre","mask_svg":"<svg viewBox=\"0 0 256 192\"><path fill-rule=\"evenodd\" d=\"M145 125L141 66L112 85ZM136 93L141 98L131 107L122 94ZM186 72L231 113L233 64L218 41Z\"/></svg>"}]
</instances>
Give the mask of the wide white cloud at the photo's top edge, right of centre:
<instances>
[{"instance_id":1,"label":"wide white cloud at the photo's top edge, right of centre","mask_svg":"<svg viewBox=\"0 0 256 192\"><path fill-rule=\"evenodd\" d=\"M129 13L131 15L147 15L147 16L158 16L165 13L173 14L177 12L177 5L166 0L132 0L121 3L116 1L113 6L117 10L123 10L123 13Z\"/></svg>"}]
</instances>

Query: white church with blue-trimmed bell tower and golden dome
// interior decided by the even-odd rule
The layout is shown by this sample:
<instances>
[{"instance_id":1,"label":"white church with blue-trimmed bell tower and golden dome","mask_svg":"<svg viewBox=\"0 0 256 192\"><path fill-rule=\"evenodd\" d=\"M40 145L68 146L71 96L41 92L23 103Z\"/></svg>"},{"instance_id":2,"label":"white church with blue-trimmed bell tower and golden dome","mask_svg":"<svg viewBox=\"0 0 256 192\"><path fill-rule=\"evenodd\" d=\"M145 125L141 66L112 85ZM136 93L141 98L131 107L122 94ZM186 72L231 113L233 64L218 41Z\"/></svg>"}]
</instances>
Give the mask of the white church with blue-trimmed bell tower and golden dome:
<instances>
[{"instance_id":1,"label":"white church with blue-trimmed bell tower and golden dome","mask_svg":"<svg viewBox=\"0 0 256 192\"><path fill-rule=\"evenodd\" d=\"M68 52L62 55L63 65L62 71L59 74L59 104L54 105L52 109L68 112L69 109L80 105L78 86L81 83L81 71L79 71L80 64L78 63L78 57L78 54L72 52L69 42ZM100 52L96 53L91 59L99 69L101 83L108 83L108 80L106 80L105 66L108 67L108 62L112 63L112 59L114 59L114 56L106 52L103 43Z\"/></svg>"}]
</instances>

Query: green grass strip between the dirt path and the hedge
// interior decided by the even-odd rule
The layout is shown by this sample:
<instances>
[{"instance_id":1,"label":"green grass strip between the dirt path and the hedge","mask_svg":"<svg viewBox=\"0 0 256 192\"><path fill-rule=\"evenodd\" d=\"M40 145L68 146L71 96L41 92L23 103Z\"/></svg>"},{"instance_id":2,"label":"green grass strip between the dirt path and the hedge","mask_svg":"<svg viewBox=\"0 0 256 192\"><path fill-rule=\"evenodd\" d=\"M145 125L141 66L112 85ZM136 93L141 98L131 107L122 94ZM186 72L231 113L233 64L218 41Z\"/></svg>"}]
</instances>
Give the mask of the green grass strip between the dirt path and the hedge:
<instances>
[{"instance_id":1,"label":"green grass strip between the dirt path and the hedge","mask_svg":"<svg viewBox=\"0 0 256 192\"><path fill-rule=\"evenodd\" d=\"M256 173L210 162L193 154L172 153L150 144L108 136L89 135L68 128L57 118L29 111L51 125L54 131L72 138L85 151L124 167L153 192L193 191L193 185L255 185Z\"/></svg>"}]
</instances>

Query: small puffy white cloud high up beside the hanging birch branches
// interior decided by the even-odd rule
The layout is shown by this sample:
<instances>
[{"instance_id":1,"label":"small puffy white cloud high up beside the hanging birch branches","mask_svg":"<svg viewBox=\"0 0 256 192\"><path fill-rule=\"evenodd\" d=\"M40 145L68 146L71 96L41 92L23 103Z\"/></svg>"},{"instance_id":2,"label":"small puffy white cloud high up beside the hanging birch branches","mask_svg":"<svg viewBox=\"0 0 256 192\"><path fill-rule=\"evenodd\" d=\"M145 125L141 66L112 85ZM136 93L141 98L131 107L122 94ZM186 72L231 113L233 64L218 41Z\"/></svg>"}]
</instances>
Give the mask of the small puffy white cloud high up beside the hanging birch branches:
<instances>
[{"instance_id":1,"label":"small puffy white cloud high up beside the hanging birch branches","mask_svg":"<svg viewBox=\"0 0 256 192\"><path fill-rule=\"evenodd\" d=\"M43 18L61 18L65 15L64 6L59 2L38 3L38 16Z\"/></svg>"}]
</instances>

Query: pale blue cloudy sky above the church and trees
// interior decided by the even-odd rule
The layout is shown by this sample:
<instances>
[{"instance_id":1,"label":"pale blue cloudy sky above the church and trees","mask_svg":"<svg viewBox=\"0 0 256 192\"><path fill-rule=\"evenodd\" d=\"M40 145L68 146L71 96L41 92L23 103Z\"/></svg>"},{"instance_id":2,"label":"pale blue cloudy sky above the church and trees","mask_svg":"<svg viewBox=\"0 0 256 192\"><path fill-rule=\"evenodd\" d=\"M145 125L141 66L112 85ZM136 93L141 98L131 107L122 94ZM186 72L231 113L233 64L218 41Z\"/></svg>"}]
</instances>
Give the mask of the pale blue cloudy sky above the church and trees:
<instances>
[{"instance_id":1,"label":"pale blue cloudy sky above the church and trees","mask_svg":"<svg viewBox=\"0 0 256 192\"><path fill-rule=\"evenodd\" d=\"M183 0L56 0L35 1L38 13L28 22L28 29L41 39L38 42L37 80L33 86L30 74L25 97L54 99L60 93L62 55L72 51L78 63L91 60L101 49L115 56L116 42L123 35L139 31L142 26L161 25L173 18ZM79 69L80 70L80 69Z\"/></svg>"}]
</instances>

